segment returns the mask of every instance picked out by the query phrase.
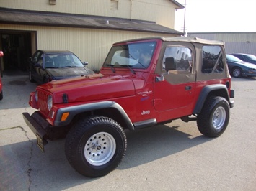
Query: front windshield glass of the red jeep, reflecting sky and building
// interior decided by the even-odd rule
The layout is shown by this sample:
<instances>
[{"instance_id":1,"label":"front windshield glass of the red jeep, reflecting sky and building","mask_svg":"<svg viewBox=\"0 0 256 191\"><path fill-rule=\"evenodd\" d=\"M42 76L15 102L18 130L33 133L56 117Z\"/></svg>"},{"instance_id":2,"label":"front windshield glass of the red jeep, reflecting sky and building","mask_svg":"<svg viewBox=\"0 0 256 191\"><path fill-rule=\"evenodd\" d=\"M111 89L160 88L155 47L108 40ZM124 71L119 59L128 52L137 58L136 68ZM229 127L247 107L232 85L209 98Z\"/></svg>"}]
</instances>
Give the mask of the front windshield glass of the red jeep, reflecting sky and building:
<instances>
[{"instance_id":1,"label":"front windshield glass of the red jeep, reflecting sky and building","mask_svg":"<svg viewBox=\"0 0 256 191\"><path fill-rule=\"evenodd\" d=\"M156 42L138 42L111 48L103 67L147 68L151 62Z\"/></svg>"}]
</instances>

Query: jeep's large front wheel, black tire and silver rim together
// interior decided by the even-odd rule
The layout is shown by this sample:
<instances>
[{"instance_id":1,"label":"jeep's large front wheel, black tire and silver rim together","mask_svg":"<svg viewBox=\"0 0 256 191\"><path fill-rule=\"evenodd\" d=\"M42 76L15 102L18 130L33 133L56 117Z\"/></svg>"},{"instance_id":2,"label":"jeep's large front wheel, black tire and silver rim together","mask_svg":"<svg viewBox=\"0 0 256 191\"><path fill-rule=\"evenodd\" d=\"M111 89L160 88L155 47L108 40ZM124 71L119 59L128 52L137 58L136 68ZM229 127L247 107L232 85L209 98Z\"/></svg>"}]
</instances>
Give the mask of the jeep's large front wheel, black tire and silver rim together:
<instances>
[{"instance_id":1,"label":"jeep's large front wheel, black tire and silver rim together","mask_svg":"<svg viewBox=\"0 0 256 191\"><path fill-rule=\"evenodd\" d=\"M120 164L127 139L122 127L111 118L94 116L78 121L66 137L66 158L86 177L108 174Z\"/></svg>"}]
</instances>

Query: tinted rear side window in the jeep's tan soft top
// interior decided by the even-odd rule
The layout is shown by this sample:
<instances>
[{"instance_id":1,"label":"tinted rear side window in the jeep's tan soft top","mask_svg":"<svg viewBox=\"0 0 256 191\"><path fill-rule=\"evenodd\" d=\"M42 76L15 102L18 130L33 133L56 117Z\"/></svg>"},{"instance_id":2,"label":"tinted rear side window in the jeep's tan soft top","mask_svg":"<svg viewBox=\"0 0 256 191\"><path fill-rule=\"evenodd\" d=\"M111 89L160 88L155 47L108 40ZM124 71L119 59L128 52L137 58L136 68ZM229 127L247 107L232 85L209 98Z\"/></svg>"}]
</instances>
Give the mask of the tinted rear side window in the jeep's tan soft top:
<instances>
[{"instance_id":1,"label":"tinted rear side window in the jeep's tan soft top","mask_svg":"<svg viewBox=\"0 0 256 191\"><path fill-rule=\"evenodd\" d=\"M221 47L218 45L203 46L202 73L222 73L224 71L224 61Z\"/></svg>"}]
</instances>

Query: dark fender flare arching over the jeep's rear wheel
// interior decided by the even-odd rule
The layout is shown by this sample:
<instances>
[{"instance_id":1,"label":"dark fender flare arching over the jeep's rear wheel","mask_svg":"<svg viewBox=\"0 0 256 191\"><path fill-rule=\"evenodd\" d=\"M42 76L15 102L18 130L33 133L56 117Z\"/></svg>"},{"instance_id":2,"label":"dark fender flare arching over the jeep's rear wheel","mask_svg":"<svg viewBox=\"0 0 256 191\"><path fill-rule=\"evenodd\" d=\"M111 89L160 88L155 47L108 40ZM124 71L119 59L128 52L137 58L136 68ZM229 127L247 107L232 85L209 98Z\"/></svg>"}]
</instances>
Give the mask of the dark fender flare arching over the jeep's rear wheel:
<instances>
[{"instance_id":1,"label":"dark fender flare arching over the jeep's rear wheel","mask_svg":"<svg viewBox=\"0 0 256 191\"><path fill-rule=\"evenodd\" d=\"M231 105L230 99L229 99L229 91L226 88L226 85L223 84L213 84L213 85L206 85L200 92L200 95L198 96L198 101L195 104L195 108L193 110L193 113L200 113L201 109L203 108L203 104L206 101L207 96L216 90L221 90L220 96L226 98L226 100L229 102L229 105ZM218 94L213 94L218 95Z\"/></svg>"}]
</instances>

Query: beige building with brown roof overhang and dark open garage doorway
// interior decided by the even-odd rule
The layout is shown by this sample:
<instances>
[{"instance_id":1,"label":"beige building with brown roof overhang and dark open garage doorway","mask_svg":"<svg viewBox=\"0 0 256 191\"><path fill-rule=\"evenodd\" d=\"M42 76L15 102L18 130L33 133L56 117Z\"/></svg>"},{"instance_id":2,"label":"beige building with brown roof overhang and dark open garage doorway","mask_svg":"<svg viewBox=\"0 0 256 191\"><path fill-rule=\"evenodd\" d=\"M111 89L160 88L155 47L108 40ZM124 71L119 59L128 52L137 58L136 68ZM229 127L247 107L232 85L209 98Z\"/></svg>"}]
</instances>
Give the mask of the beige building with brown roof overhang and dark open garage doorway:
<instances>
[{"instance_id":1,"label":"beige building with brown roof overhang and dark open garage doorway","mask_svg":"<svg viewBox=\"0 0 256 191\"><path fill-rule=\"evenodd\" d=\"M99 70L112 43L174 30L172 0L0 0L1 70L26 70L36 50L70 50Z\"/></svg>"}]
</instances>

